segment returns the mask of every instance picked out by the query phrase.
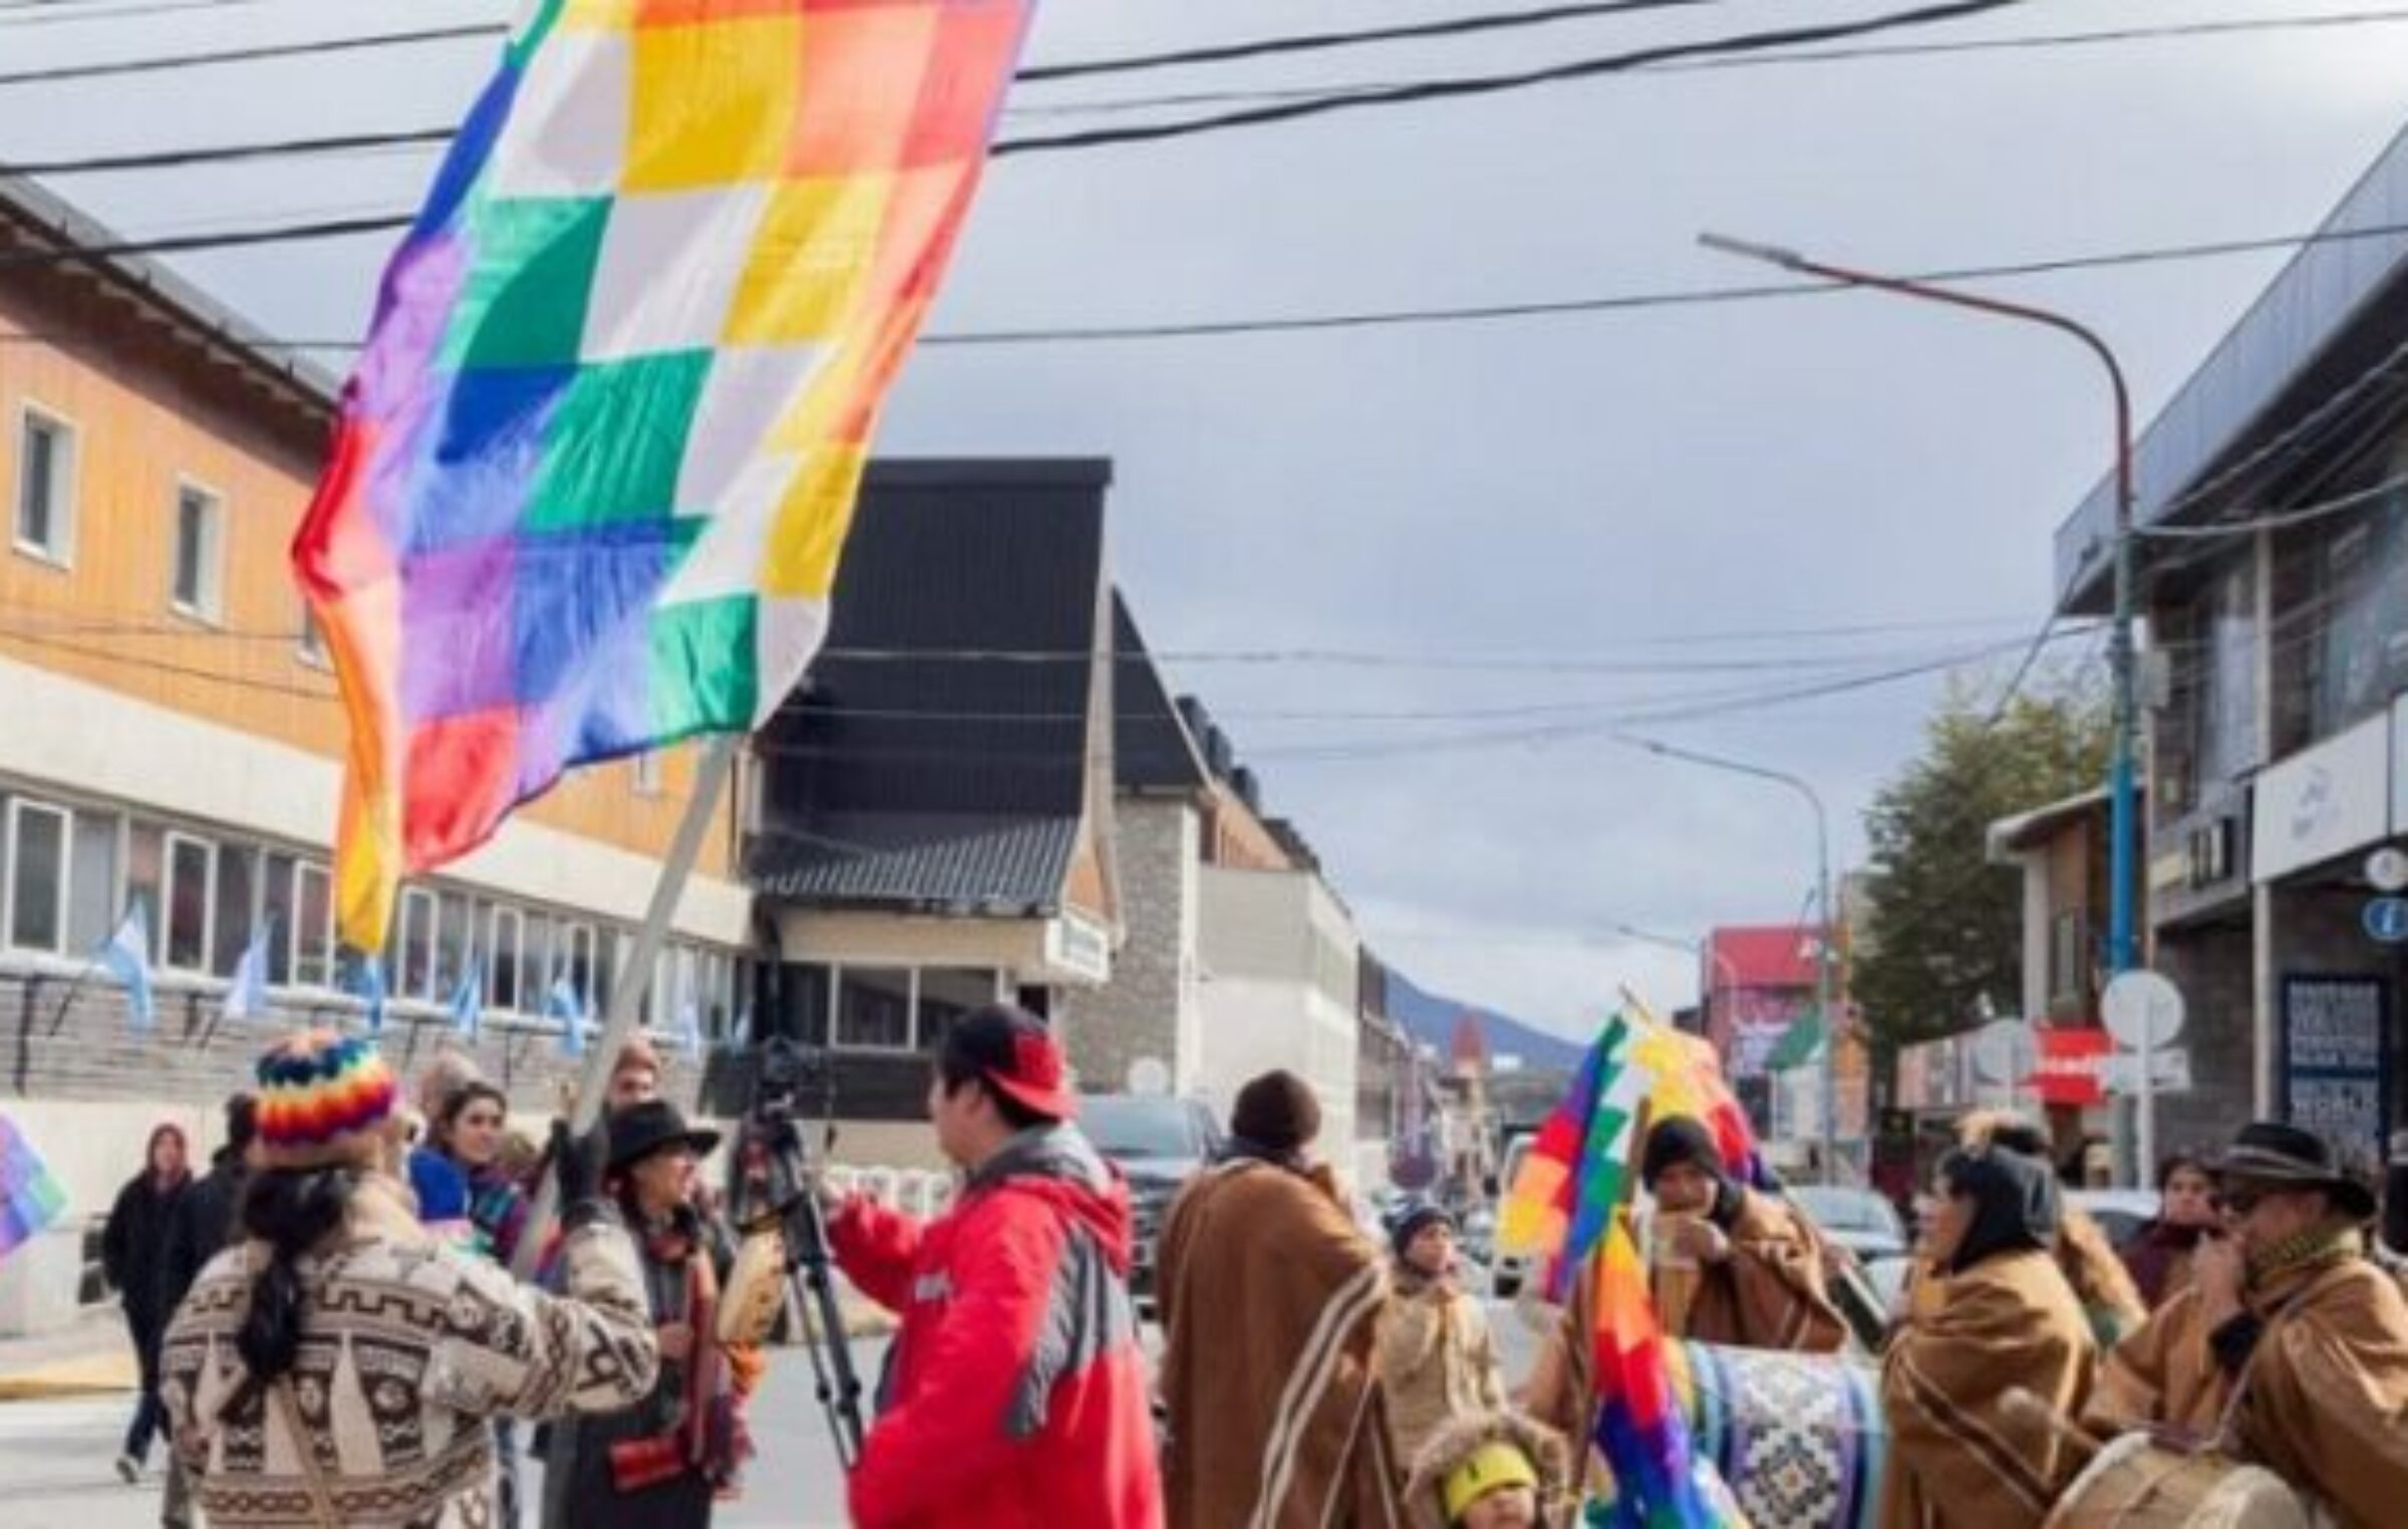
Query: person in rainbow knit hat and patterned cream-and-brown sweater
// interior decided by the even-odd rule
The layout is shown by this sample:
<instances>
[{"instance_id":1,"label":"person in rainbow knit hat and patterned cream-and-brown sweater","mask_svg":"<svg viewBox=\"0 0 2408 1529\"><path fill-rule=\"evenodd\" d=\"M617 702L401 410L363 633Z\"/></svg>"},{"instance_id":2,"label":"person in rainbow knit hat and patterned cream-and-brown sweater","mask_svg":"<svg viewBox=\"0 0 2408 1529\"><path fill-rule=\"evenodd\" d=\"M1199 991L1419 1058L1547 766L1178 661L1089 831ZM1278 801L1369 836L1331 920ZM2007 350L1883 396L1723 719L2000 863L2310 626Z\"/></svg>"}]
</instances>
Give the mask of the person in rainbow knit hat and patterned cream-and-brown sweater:
<instances>
[{"instance_id":1,"label":"person in rainbow knit hat and patterned cream-and-brown sweater","mask_svg":"<svg viewBox=\"0 0 2408 1529\"><path fill-rule=\"evenodd\" d=\"M169 1324L161 1394L209 1529L494 1522L486 1418L633 1406L660 1370L607 1149L554 1124L566 1295L443 1245L402 1180L376 1045L294 1035L258 1064L243 1240Z\"/></svg>"}]
</instances>

